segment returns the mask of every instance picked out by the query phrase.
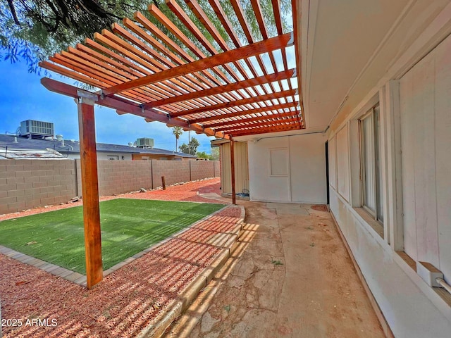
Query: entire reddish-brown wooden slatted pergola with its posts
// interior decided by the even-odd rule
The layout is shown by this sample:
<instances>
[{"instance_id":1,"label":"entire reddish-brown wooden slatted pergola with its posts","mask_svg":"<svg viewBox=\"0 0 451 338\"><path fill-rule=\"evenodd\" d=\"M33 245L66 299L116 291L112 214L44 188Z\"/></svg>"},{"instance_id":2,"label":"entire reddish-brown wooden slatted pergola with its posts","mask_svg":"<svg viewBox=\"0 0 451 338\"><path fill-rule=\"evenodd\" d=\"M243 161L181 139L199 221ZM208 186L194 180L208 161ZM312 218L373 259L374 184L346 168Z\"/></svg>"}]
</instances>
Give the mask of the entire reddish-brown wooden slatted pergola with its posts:
<instances>
[{"instance_id":1,"label":"entire reddish-brown wooden slatted pergola with its posts","mask_svg":"<svg viewBox=\"0 0 451 338\"><path fill-rule=\"evenodd\" d=\"M78 100L89 288L103 276L94 104L116 109L118 114L142 116L147 122L230 139L234 204L233 138L304 127L300 73L296 66L288 67L296 20L294 32L284 33L279 0L271 2L277 32L272 37L259 0L251 0L259 41L252 35L239 0L230 0L234 24L219 0L209 0L228 42L196 0L185 3L197 24L175 0L166 0L177 24L152 4L149 14L156 19L154 23L135 13L133 19L125 18L121 25L113 24L111 30L96 33L94 39L87 38L84 44L40 63L42 68L97 88L88 92L49 78L41 80L47 89ZM296 7L292 9L296 18ZM199 23L203 27L198 27ZM180 25L197 41L187 37ZM245 39L238 37L237 28ZM295 52L297 48L291 49L292 58Z\"/></svg>"}]
</instances>

